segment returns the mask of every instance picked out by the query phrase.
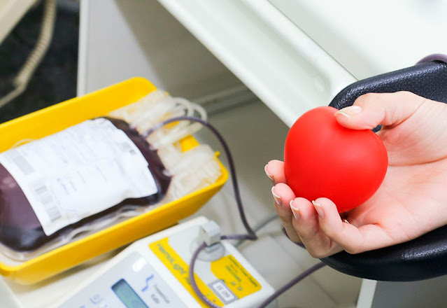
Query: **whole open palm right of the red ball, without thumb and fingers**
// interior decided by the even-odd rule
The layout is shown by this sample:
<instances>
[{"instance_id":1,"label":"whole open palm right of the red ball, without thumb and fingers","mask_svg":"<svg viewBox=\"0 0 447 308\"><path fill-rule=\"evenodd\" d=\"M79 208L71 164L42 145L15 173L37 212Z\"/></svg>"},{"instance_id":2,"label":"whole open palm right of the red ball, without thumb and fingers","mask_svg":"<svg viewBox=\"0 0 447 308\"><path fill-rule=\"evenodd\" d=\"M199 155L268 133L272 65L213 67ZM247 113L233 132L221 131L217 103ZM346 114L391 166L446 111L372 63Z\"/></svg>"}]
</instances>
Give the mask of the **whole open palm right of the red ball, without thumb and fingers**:
<instances>
[{"instance_id":1,"label":"whole open palm right of the red ball, without thumb and fingers","mask_svg":"<svg viewBox=\"0 0 447 308\"><path fill-rule=\"evenodd\" d=\"M387 241L400 243L447 223L447 120L444 104L423 104L404 123L378 134L390 166L381 188L370 200L347 213L353 225L378 225ZM381 241L381 239L371 239Z\"/></svg>"}]
</instances>

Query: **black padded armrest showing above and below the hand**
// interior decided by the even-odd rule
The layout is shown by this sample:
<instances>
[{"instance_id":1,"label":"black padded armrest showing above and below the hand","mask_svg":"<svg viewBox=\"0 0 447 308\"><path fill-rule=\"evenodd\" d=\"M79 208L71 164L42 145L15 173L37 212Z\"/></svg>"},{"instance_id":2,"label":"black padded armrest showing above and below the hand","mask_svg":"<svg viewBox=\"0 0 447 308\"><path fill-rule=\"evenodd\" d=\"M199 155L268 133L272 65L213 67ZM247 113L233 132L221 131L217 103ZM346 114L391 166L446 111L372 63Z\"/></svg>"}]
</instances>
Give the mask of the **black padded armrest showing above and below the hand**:
<instances>
[{"instance_id":1,"label":"black padded armrest showing above and below the hand","mask_svg":"<svg viewBox=\"0 0 447 308\"><path fill-rule=\"evenodd\" d=\"M444 59L430 57L427 60ZM368 92L410 91L447 103L447 63L430 61L349 85L329 106L342 109ZM447 188L446 188L447 189ZM447 225L403 244L357 255L323 258L329 267L352 276L381 281L416 281L447 274Z\"/></svg>"}]
</instances>

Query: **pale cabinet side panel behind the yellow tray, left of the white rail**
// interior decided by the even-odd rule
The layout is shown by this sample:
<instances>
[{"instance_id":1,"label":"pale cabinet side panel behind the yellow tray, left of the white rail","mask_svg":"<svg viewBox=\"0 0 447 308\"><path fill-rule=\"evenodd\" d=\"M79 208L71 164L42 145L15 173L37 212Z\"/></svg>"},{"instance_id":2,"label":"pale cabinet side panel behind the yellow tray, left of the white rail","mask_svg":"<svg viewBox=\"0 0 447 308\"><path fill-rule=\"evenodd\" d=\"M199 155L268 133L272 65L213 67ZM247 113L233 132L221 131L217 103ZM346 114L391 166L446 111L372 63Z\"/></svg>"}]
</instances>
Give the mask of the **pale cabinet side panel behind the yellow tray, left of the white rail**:
<instances>
[{"instance_id":1,"label":"pale cabinet side panel behind the yellow tray, left of the white rail","mask_svg":"<svg viewBox=\"0 0 447 308\"><path fill-rule=\"evenodd\" d=\"M81 3L78 94L143 76L196 98L240 81L155 0Z\"/></svg>"}]
</instances>

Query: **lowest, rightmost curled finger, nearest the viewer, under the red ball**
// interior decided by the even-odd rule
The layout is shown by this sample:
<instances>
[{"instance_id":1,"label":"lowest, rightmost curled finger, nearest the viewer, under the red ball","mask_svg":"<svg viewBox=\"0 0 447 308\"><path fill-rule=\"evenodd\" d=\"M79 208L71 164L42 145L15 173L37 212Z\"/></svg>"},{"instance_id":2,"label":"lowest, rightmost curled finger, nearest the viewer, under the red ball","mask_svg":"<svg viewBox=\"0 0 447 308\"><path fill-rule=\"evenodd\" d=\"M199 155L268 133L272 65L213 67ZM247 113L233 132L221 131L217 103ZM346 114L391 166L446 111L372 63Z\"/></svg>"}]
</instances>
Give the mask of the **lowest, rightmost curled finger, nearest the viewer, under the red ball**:
<instances>
[{"instance_id":1,"label":"lowest, rightmost curled finger, nearest the viewer, under the red ball","mask_svg":"<svg viewBox=\"0 0 447 308\"><path fill-rule=\"evenodd\" d=\"M395 244L379 225L369 224L357 228L352 223L341 221L334 202L327 198L315 200L314 207L322 232L348 253L361 253Z\"/></svg>"}]
</instances>

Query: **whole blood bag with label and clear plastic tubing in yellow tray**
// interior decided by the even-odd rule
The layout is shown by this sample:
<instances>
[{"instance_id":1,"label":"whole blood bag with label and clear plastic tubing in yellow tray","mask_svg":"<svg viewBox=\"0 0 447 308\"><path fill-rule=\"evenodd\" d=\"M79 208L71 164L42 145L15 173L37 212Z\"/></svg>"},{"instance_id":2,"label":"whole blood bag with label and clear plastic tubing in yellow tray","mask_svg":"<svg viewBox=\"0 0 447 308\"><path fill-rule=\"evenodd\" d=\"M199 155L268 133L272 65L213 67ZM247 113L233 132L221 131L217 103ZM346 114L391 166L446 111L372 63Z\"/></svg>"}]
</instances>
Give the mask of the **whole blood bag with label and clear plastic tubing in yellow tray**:
<instances>
[{"instance_id":1,"label":"whole blood bag with label and clear plastic tubing in yellow tray","mask_svg":"<svg viewBox=\"0 0 447 308\"><path fill-rule=\"evenodd\" d=\"M156 90L108 115L0 153L0 253L29 260L217 181L197 123L157 123L204 110Z\"/></svg>"}]
</instances>

